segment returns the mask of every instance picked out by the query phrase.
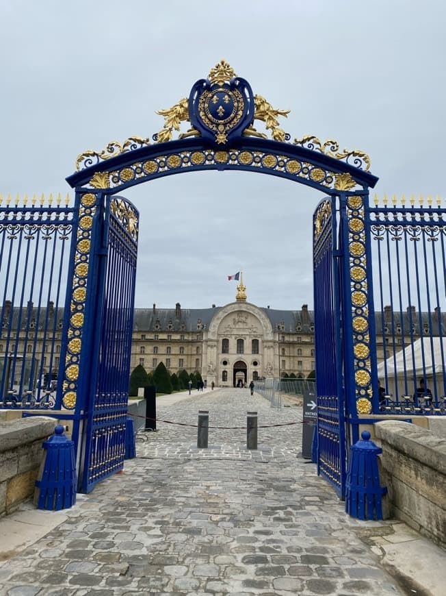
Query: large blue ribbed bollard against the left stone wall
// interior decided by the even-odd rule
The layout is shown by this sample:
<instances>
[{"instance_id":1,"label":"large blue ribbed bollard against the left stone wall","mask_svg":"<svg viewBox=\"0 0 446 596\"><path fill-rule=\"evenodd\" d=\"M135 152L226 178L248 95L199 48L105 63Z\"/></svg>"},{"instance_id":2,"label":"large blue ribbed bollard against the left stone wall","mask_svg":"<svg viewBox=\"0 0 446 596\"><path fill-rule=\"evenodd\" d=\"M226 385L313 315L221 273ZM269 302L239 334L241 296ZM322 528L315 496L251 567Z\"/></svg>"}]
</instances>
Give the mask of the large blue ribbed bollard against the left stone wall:
<instances>
[{"instance_id":1,"label":"large blue ribbed bollard against the left stone wall","mask_svg":"<svg viewBox=\"0 0 446 596\"><path fill-rule=\"evenodd\" d=\"M76 502L75 443L66 438L64 427L57 425L54 434L44 441L46 450L34 493L34 504L38 509L59 511L68 509Z\"/></svg>"}]
</instances>

